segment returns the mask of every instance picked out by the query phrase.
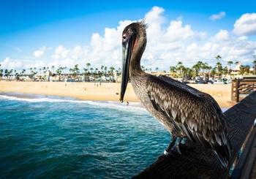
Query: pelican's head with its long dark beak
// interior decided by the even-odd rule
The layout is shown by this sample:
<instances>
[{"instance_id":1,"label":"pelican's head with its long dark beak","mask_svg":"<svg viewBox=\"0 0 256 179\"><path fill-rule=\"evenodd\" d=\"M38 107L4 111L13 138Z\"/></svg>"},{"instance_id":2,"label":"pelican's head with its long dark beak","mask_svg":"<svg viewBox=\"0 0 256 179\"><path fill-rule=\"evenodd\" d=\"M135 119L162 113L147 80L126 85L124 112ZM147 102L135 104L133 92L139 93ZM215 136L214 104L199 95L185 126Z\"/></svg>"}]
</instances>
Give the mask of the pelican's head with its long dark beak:
<instances>
[{"instance_id":1,"label":"pelican's head with its long dark beak","mask_svg":"<svg viewBox=\"0 0 256 179\"><path fill-rule=\"evenodd\" d=\"M121 94L119 99L121 102L123 102L124 94L127 88L127 83L129 79L129 66L132 54L137 53L134 50L135 48L138 49L138 42L141 38L146 38L146 24L144 23L144 21L138 23L131 23L129 24L129 26L124 28L122 34L123 68L121 78ZM144 48L145 47L143 47L143 50Z\"/></svg>"}]
</instances>

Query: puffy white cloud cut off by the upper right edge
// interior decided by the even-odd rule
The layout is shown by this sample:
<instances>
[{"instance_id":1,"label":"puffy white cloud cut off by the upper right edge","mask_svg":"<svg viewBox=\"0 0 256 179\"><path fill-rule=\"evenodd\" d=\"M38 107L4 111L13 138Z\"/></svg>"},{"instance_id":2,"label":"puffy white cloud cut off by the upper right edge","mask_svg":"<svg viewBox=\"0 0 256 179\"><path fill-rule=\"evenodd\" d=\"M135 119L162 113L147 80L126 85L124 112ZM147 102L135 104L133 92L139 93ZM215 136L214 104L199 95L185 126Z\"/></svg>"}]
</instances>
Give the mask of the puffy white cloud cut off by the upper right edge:
<instances>
[{"instance_id":1,"label":"puffy white cloud cut off by the upper right edge","mask_svg":"<svg viewBox=\"0 0 256 179\"><path fill-rule=\"evenodd\" d=\"M238 35L256 34L256 13L242 15L234 24L233 32Z\"/></svg>"}]
</instances>

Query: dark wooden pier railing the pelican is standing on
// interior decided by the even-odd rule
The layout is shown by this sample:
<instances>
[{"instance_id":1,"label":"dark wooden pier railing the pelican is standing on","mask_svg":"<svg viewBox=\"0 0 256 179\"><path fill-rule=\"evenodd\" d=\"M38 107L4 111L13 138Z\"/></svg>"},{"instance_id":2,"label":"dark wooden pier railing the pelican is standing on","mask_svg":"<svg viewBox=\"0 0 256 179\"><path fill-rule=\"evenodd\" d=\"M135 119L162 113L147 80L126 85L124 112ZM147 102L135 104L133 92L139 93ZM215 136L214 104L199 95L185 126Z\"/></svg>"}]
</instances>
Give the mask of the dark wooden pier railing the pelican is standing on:
<instances>
[{"instance_id":1,"label":"dark wooden pier railing the pelican is standing on","mask_svg":"<svg viewBox=\"0 0 256 179\"><path fill-rule=\"evenodd\" d=\"M237 161L232 178L242 178L246 164L251 163L252 166L252 163L256 162L249 162L250 157L253 157L250 151L254 149L251 145L255 137L255 129L252 129L252 126L256 118L256 91L227 110L225 116L227 135L233 146L229 163ZM242 145L245 146L244 153L238 159ZM229 178L229 169L219 166L211 150L189 141L181 145L180 149L181 155L161 155L154 164L133 178ZM242 160L244 162L241 162Z\"/></svg>"}]
</instances>

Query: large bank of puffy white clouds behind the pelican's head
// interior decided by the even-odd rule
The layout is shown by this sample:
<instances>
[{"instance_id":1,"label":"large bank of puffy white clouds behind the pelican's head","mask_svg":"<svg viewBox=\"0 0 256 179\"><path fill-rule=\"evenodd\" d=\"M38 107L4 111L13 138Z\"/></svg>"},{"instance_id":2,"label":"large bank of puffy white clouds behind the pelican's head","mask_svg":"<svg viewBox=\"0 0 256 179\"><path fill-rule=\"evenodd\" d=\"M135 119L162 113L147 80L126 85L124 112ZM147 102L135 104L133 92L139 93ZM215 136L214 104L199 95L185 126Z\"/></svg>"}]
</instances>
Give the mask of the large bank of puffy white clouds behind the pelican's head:
<instances>
[{"instance_id":1,"label":"large bank of puffy white clouds behind the pelican's head","mask_svg":"<svg viewBox=\"0 0 256 179\"><path fill-rule=\"evenodd\" d=\"M147 68L168 69L183 61L186 66L192 66L197 61L216 64L215 56L222 56L222 62L242 61L250 63L255 53L256 42L246 36L234 36L230 31L220 29L209 36L206 31L196 31L192 25L183 22L182 18L167 20L165 9L153 7L146 13L144 19L148 23L145 53L141 64ZM105 28L104 34L94 32L91 40L85 45L64 47L59 45L51 50L48 61L26 61L24 67L36 66L67 66L79 64L80 69L101 65L121 67L121 33L129 23L138 20L121 20L115 28ZM45 51L40 48L39 50ZM47 54L45 53L44 56ZM39 59L39 58L38 58ZM21 66L21 65L20 65Z\"/></svg>"}]
</instances>

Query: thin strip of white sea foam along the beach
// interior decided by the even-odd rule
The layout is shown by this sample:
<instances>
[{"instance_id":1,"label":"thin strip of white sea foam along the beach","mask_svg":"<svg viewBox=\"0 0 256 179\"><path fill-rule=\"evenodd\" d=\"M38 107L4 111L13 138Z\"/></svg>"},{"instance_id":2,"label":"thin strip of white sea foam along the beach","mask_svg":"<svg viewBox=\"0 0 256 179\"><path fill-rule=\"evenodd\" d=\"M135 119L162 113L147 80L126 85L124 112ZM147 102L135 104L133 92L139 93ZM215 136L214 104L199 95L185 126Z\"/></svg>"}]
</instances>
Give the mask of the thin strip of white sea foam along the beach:
<instances>
[{"instance_id":1,"label":"thin strip of white sea foam along the beach","mask_svg":"<svg viewBox=\"0 0 256 179\"><path fill-rule=\"evenodd\" d=\"M129 102L129 105L122 104L120 102L112 102L112 101L106 101L106 102L99 102L99 101L90 101L90 100L79 100L79 99L54 99L54 98L48 98L48 97L42 97L42 98L24 98L24 97L18 97L18 96L9 96L9 95L2 95L0 94L0 99L7 99L7 100L15 100L15 101L23 101L23 102L69 102L69 103L83 103L83 104L89 104L93 105L94 107L106 107L106 108L112 108L116 110L140 110L140 111L146 111L144 107L140 105L138 102Z\"/></svg>"}]
</instances>

